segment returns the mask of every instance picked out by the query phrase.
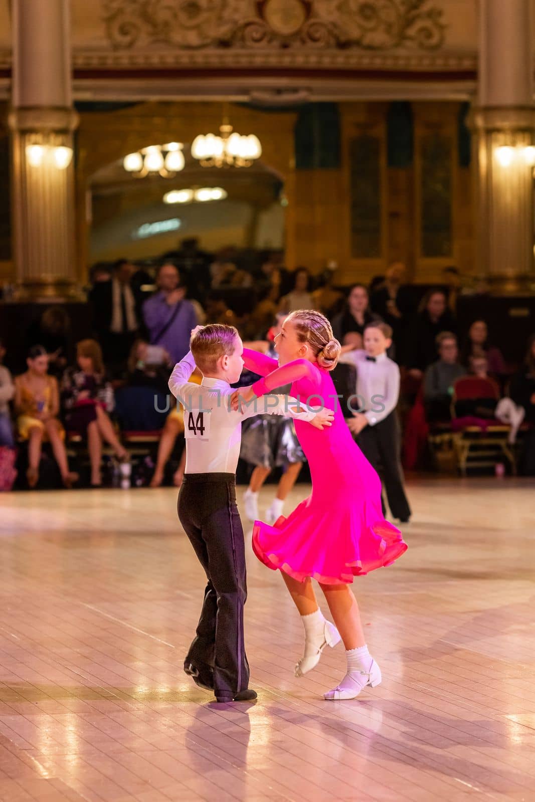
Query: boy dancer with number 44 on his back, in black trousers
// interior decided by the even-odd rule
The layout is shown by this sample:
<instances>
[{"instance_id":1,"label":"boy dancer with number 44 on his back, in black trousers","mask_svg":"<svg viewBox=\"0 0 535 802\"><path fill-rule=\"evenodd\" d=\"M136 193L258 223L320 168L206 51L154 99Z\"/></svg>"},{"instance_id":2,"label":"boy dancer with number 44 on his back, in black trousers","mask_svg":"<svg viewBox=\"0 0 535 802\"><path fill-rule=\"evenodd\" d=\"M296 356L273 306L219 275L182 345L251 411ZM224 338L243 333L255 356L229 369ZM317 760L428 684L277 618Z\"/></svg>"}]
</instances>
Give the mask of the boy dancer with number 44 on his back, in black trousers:
<instances>
[{"instance_id":1,"label":"boy dancer with number 44 on his back, in black trousers","mask_svg":"<svg viewBox=\"0 0 535 802\"><path fill-rule=\"evenodd\" d=\"M186 468L178 498L178 516L205 569L208 584L197 636L184 671L200 687L214 691L217 702L256 699L249 690L249 664L243 638L247 595L245 544L236 505L236 466L241 421L260 412L290 415L318 428L330 426L333 414L296 411L294 399L269 395L245 411L234 411L230 385L243 367L243 345L233 326L197 326L191 350L169 379L172 394L184 404ZM195 367L201 386L188 382ZM293 402L293 405L292 405Z\"/></svg>"}]
</instances>

